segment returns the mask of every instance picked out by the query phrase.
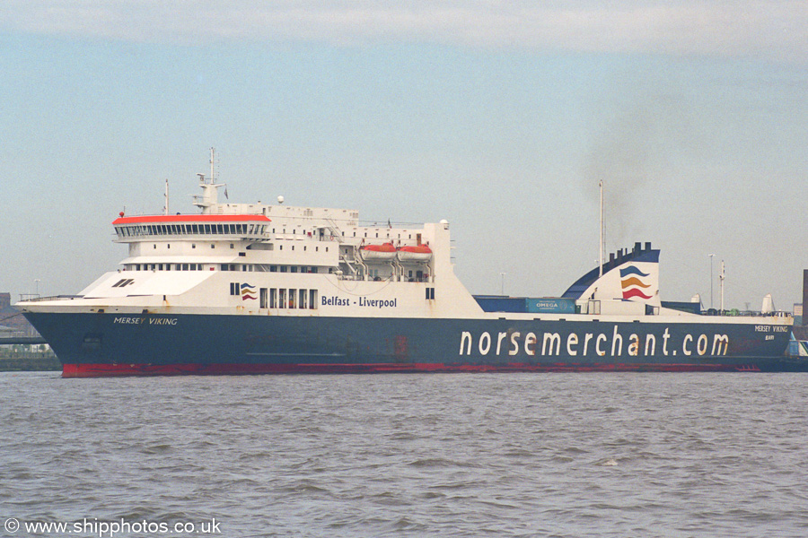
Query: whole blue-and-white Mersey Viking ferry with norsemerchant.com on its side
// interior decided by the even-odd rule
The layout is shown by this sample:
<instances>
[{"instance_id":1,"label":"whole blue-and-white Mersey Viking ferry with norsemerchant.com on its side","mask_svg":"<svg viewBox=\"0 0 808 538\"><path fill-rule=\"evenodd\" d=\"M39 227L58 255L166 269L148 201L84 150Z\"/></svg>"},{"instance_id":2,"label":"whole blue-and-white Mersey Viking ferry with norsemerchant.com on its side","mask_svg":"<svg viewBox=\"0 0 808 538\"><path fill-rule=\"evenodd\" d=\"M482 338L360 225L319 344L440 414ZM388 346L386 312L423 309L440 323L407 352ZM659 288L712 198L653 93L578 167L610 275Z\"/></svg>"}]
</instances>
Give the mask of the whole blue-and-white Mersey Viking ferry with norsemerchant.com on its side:
<instances>
[{"instance_id":1,"label":"whole blue-and-white Mersey Viking ferry with norsemerchant.com on its side","mask_svg":"<svg viewBox=\"0 0 808 538\"><path fill-rule=\"evenodd\" d=\"M808 369L786 352L785 313L661 300L649 243L602 257L558 297L475 296L454 273L448 221L221 203L213 161L198 213L121 212L117 269L17 303L63 377Z\"/></svg>"}]
</instances>

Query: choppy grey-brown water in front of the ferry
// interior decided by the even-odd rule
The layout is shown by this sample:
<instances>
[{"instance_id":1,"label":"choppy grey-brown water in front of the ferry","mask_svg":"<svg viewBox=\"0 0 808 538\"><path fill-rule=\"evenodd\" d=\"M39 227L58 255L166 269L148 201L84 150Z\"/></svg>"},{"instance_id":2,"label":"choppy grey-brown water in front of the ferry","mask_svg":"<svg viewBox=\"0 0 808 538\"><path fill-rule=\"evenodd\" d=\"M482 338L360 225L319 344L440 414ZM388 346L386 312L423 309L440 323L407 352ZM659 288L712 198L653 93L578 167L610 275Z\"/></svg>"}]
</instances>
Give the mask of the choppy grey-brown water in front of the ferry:
<instances>
[{"instance_id":1,"label":"choppy grey-brown water in front of the ferry","mask_svg":"<svg viewBox=\"0 0 808 538\"><path fill-rule=\"evenodd\" d=\"M0 535L803 537L806 379L0 374Z\"/></svg>"}]
</instances>

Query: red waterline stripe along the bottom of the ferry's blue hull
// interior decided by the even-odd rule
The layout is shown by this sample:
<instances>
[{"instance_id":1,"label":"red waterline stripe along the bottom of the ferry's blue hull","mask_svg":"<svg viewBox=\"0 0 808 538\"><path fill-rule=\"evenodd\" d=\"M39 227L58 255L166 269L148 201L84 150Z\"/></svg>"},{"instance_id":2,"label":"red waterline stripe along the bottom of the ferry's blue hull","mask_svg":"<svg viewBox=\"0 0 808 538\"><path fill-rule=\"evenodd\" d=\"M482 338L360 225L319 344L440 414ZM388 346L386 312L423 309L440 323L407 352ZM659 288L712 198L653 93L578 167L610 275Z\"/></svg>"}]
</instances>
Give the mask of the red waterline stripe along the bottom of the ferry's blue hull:
<instances>
[{"instance_id":1,"label":"red waterline stripe along the bottom of the ferry's blue hull","mask_svg":"<svg viewBox=\"0 0 808 538\"><path fill-rule=\"evenodd\" d=\"M371 374L417 372L717 372L760 371L744 364L66 364L62 377L233 376L250 374Z\"/></svg>"}]
</instances>

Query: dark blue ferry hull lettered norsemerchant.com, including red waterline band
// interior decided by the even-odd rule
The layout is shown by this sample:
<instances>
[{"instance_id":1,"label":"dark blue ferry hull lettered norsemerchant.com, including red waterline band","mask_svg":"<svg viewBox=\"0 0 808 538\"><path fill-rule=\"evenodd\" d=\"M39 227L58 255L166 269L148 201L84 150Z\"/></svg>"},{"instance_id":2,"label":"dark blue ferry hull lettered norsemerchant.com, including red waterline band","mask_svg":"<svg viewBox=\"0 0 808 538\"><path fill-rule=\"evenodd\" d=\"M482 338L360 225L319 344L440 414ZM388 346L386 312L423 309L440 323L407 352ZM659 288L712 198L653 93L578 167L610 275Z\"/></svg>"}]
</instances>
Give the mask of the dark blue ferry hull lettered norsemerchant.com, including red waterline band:
<instances>
[{"instance_id":1,"label":"dark blue ferry hull lettered norsemerchant.com, including red waterline band","mask_svg":"<svg viewBox=\"0 0 808 538\"><path fill-rule=\"evenodd\" d=\"M26 312L64 377L808 371L785 325Z\"/></svg>"}]
</instances>

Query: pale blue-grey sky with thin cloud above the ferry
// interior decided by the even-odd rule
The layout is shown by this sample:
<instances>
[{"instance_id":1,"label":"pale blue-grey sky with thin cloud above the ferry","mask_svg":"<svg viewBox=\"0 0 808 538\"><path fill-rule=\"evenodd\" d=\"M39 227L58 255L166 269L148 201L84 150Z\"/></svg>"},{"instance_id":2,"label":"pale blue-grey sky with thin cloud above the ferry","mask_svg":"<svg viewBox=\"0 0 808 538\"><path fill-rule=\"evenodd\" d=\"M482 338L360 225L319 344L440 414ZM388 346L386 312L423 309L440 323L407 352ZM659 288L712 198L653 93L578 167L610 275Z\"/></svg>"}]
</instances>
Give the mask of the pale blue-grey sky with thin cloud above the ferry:
<instances>
[{"instance_id":1,"label":"pale blue-grey sky with thin cloud above the ferry","mask_svg":"<svg viewBox=\"0 0 808 538\"><path fill-rule=\"evenodd\" d=\"M663 299L800 300L808 3L97 2L0 6L0 290L70 293L110 221L177 210L211 145L233 201L452 222L473 292L557 295L663 250ZM717 284L716 284L717 302Z\"/></svg>"}]
</instances>

